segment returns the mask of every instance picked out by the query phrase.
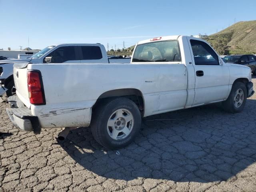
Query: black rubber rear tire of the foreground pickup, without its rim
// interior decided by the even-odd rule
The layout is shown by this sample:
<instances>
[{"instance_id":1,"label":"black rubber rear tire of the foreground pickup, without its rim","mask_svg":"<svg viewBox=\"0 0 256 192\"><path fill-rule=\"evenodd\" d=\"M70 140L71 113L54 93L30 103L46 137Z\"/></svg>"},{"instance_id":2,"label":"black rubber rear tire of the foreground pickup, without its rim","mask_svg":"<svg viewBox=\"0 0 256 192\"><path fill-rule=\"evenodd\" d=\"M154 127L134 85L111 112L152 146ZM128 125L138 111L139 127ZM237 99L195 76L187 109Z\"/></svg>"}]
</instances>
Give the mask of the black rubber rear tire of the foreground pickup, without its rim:
<instances>
[{"instance_id":1,"label":"black rubber rear tire of the foreground pickup, without its rim","mask_svg":"<svg viewBox=\"0 0 256 192\"><path fill-rule=\"evenodd\" d=\"M126 109L131 112L134 122L130 134L126 138L114 140L108 133L108 120L112 114L119 109ZM138 135L141 125L141 115L138 106L127 98L110 98L104 100L93 110L91 120L91 131L94 139L107 149L114 150L128 146ZM118 134L119 135L119 134Z\"/></svg>"}]
</instances>

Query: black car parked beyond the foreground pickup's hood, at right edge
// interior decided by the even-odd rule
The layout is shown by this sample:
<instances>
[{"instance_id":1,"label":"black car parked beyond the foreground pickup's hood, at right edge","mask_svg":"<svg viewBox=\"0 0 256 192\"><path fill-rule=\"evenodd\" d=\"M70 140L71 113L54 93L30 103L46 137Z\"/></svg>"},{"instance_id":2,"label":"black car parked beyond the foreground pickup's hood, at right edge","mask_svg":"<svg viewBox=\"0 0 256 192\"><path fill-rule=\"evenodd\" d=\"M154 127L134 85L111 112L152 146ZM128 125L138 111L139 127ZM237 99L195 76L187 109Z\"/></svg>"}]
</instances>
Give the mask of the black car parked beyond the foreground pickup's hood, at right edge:
<instances>
[{"instance_id":1,"label":"black car parked beyond the foreground pickup's hood, at right edge","mask_svg":"<svg viewBox=\"0 0 256 192\"><path fill-rule=\"evenodd\" d=\"M245 65L251 68L256 75L256 56L255 55L228 55L223 58L224 62Z\"/></svg>"}]
</instances>

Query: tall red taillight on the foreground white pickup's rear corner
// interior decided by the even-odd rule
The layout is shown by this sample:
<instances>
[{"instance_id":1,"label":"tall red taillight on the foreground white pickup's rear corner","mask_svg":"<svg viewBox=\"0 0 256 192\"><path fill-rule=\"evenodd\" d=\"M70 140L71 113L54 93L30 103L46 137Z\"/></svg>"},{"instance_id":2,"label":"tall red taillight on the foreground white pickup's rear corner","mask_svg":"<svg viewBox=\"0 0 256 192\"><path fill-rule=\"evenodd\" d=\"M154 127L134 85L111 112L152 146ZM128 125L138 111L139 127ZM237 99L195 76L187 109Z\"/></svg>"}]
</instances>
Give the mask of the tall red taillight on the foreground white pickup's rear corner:
<instances>
[{"instance_id":1,"label":"tall red taillight on the foreground white pickup's rear corner","mask_svg":"<svg viewBox=\"0 0 256 192\"><path fill-rule=\"evenodd\" d=\"M31 104L45 103L41 74L38 71L28 71L28 97Z\"/></svg>"}]
</instances>

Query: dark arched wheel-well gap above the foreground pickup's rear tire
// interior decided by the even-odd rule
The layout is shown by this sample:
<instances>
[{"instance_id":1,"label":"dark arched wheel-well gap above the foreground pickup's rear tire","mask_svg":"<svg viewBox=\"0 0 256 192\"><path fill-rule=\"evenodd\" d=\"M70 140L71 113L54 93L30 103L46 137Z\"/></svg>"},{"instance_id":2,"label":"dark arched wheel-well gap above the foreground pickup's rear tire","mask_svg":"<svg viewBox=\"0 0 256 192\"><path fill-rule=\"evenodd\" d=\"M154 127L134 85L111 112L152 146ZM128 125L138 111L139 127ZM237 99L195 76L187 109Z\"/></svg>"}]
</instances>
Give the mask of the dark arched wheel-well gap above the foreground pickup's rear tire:
<instances>
[{"instance_id":1,"label":"dark arched wheel-well gap above the foreground pickup's rear tire","mask_svg":"<svg viewBox=\"0 0 256 192\"><path fill-rule=\"evenodd\" d=\"M114 97L125 97L130 100L132 100L140 109L140 112L143 116L144 114L144 98L142 95L142 92L138 89L116 89L116 90L110 90L107 92L104 92L99 96L96 103L92 107L93 110L100 104L103 100L106 100L107 98L114 98Z\"/></svg>"}]
</instances>

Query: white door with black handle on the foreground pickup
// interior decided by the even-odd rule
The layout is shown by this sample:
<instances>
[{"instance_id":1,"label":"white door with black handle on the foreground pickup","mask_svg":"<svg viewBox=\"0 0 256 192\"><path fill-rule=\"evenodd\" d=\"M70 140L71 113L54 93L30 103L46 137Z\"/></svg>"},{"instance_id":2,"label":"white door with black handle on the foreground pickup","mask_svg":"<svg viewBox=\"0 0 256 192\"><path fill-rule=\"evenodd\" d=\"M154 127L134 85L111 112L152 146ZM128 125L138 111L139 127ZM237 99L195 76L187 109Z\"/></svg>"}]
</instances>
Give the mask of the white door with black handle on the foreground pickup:
<instances>
[{"instance_id":1,"label":"white door with black handle on the foreground pickup","mask_svg":"<svg viewBox=\"0 0 256 192\"><path fill-rule=\"evenodd\" d=\"M206 42L189 37L188 42L196 73L192 106L226 99L230 77L228 67Z\"/></svg>"}]
</instances>

